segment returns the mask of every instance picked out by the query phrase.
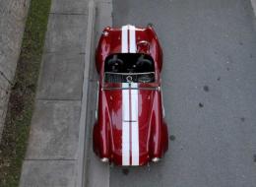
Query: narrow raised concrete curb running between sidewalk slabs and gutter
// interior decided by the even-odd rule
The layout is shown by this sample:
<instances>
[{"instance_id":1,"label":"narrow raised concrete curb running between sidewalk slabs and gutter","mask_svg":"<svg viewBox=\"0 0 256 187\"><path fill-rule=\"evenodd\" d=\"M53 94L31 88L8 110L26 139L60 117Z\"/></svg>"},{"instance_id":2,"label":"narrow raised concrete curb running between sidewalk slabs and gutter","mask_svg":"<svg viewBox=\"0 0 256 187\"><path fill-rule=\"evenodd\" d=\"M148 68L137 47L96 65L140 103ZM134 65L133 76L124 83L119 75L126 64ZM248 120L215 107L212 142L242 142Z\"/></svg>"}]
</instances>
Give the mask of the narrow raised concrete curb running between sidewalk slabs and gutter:
<instances>
[{"instance_id":1,"label":"narrow raised concrete curb running between sidewalk slabs and gutter","mask_svg":"<svg viewBox=\"0 0 256 187\"><path fill-rule=\"evenodd\" d=\"M85 50L85 69L84 69L84 80L83 80L83 94L82 94L82 106L80 116L80 130L79 130L79 157L78 157L78 170L77 170L77 187L84 187L87 176L87 155L89 147L89 125L86 124L87 120L87 109L88 109L88 93L89 93L89 71L92 62L92 48L94 48L94 30L95 30L95 17L96 17L96 5L95 1L89 2L89 16L88 16L88 30L87 30L87 41Z\"/></svg>"}]
</instances>

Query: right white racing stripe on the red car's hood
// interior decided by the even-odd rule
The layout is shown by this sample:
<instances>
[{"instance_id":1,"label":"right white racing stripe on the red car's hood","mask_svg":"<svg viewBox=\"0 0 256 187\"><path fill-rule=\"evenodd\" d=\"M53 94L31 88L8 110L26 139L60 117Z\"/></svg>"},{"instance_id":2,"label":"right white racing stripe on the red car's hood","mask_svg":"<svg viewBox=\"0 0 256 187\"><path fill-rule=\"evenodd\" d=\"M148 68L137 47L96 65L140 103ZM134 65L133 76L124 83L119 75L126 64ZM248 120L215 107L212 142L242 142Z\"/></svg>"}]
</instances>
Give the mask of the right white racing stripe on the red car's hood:
<instances>
[{"instance_id":1,"label":"right white racing stripe on the red car's hood","mask_svg":"<svg viewBox=\"0 0 256 187\"><path fill-rule=\"evenodd\" d=\"M138 125L138 84L132 84L132 88L135 90L131 90L131 125L132 125L132 165L139 165L139 125Z\"/></svg>"}]
</instances>

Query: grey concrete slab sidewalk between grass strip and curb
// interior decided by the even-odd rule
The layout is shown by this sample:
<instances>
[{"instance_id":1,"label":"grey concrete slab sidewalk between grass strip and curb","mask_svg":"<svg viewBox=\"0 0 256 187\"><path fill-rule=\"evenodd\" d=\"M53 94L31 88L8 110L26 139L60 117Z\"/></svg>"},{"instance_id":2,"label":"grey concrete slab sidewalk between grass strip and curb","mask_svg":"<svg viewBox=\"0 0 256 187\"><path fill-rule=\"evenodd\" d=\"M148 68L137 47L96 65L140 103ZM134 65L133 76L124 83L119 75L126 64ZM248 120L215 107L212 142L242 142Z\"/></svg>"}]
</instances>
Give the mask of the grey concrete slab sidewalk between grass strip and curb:
<instances>
[{"instance_id":1,"label":"grey concrete slab sidewalk between grass strip and curb","mask_svg":"<svg viewBox=\"0 0 256 187\"><path fill-rule=\"evenodd\" d=\"M52 0L21 187L76 186L88 4Z\"/></svg>"}]
</instances>

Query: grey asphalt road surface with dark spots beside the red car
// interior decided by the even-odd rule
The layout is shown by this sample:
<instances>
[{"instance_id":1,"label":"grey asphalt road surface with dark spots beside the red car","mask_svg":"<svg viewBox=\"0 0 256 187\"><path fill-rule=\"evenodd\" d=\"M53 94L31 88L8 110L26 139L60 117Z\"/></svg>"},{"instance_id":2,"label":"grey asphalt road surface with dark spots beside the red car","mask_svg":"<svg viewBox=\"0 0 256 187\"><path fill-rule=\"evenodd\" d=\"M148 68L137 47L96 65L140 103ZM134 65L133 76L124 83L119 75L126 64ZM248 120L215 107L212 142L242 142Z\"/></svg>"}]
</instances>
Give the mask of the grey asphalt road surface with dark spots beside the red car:
<instances>
[{"instance_id":1,"label":"grey asphalt road surface with dark spots beside the red car","mask_svg":"<svg viewBox=\"0 0 256 187\"><path fill-rule=\"evenodd\" d=\"M160 37L168 153L110 167L111 187L256 186L256 31L249 0L114 0L113 25Z\"/></svg>"}]
</instances>

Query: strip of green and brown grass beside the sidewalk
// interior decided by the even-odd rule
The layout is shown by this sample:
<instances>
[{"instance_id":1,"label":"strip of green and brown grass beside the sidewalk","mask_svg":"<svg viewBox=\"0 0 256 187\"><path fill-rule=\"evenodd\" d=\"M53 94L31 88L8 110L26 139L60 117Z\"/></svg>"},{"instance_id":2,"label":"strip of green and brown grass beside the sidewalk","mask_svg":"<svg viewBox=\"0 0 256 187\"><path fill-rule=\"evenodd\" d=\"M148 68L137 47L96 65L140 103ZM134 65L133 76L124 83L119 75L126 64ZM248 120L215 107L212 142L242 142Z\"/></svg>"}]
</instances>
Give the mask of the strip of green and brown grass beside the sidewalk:
<instances>
[{"instance_id":1,"label":"strip of green and brown grass beside the sidewalk","mask_svg":"<svg viewBox=\"0 0 256 187\"><path fill-rule=\"evenodd\" d=\"M25 158L51 0L31 0L0 144L0 186L16 187Z\"/></svg>"}]
</instances>

